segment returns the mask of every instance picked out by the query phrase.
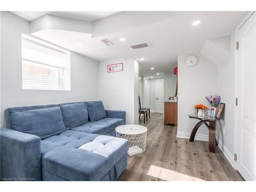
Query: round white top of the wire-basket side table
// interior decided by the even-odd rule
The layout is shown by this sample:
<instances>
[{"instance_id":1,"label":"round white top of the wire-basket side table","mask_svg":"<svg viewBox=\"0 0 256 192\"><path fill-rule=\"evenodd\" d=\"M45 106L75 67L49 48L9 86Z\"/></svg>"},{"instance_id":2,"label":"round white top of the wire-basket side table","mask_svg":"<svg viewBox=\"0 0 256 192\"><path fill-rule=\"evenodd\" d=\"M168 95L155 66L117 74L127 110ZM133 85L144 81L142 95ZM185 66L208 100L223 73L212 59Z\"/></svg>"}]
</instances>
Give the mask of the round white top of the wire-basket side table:
<instances>
[{"instance_id":1,"label":"round white top of the wire-basket side table","mask_svg":"<svg viewBox=\"0 0 256 192\"><path fill-rule=\"evenodd\" d=\"M147 132L147 128L137 124L125 124L116 127L116 132L127 135L136 135Z\"/></svg>"}]
</instances>

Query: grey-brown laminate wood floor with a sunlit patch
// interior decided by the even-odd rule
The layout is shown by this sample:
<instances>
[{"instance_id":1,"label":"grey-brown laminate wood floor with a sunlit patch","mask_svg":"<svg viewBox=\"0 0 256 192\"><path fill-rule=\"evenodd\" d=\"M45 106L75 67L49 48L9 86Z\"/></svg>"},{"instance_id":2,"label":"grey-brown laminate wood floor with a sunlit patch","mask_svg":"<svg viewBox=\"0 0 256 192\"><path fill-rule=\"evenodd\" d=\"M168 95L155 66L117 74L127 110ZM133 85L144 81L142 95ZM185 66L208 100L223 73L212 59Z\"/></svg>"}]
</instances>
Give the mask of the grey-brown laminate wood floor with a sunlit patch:
<instances>
[{"instance_id":1,"label":"grey-brown laminate wood floor with a sunlit patch","mask_svg":"<svg viewBox=\"0 0 256 192\"><path fill-rule=\"evenodd\" d=\"M118 181L243 181L220 148L208 152L208 142L177 138L177 127L163 124L163 114L151 113L140 124L147 127L146 150L128 157Z\"/></svg>"}]
</instances>

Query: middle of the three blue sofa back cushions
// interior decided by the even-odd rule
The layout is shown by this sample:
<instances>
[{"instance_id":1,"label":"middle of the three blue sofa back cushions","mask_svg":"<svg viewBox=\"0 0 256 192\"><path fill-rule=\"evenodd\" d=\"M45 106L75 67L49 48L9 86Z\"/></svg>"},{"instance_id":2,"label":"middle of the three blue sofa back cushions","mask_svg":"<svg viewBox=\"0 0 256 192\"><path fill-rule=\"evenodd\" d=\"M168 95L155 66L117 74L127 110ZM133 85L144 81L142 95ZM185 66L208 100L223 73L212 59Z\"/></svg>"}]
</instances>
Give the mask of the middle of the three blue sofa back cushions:
<instances>
[{"instance_id":1,"label":"middle of the three blue sofa back cushions","mask_svg":"<svg viewBox=\"0 0 256 192\"><path fill-rule=\"evenodd\" d=\"M86 102L60 105L66 127L75 127L88 122Z\"/></svg>"}]
</instances>

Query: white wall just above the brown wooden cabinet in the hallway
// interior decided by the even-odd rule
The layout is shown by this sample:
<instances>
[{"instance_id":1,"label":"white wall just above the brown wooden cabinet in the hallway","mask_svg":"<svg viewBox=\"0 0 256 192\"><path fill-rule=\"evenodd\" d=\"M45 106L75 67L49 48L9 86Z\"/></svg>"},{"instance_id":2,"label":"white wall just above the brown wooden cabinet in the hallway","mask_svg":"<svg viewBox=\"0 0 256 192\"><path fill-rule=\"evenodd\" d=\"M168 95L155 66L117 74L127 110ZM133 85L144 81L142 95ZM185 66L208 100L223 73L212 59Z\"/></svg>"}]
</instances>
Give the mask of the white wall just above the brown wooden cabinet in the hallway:
<instances>
[{"instance_id":1,"label":"white wall just above the brown wooden cabinet in the hallway","mask_svg":"<svg viewBox=\"0 0 256 192\"><path fill-rule=\"evenodd\" d=\"M164 100L168 100L169 96L173 97L176 89L177 77L174 72L164 73Z\"/></svg>"}]
</instances>

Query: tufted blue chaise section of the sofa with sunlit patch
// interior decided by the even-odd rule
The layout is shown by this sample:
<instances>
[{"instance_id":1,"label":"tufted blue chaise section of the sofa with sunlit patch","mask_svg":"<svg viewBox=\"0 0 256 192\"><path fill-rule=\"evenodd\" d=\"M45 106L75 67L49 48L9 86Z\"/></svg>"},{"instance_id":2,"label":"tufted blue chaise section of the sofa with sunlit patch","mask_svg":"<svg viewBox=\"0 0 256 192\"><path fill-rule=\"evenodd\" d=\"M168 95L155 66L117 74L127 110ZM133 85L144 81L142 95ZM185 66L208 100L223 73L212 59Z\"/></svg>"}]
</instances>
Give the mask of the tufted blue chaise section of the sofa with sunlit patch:
<instances>
[{"instance_id":1,"label":"tufted blue chaise section of the sofa with sunlit patch","mask_svg":"<svg viewBox=\"0 0 256 192\"><path fill-rule=\"evenodd\" d=\"M67 130L41 140L42 166L65 180L100 180L127 155L125 139Z\"/></svg>"}]
</instances>

